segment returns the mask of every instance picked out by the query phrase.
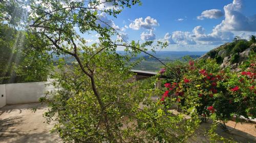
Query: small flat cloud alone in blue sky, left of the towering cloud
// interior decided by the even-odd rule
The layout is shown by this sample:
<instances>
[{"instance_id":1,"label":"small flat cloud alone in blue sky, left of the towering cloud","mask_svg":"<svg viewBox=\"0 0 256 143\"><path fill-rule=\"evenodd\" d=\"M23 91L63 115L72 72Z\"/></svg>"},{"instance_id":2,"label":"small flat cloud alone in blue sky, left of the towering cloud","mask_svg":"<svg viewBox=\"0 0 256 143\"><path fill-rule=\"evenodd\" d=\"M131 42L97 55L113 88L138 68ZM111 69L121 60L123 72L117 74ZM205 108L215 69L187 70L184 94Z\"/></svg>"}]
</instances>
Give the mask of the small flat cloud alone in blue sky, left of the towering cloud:
<instances>
[{"instance_id":1,"label":"small flat cloud alone in blue sky, left of the towering cloud","mask_svg":"<svg viewBox=\"0 0 256 143\"><path fill-rule=\"evenodd\" d=\"M218 10L218 9L211 9L211 10L206 10L206 11L203 11L201 13L200 16L197 17L197 19L200 19L200 20L203 20L204 18L210 18L210 19L217 19L217 18L220 18L222 17L224 14L222 13L221 10Z\"/></svg>"}]
</instances>

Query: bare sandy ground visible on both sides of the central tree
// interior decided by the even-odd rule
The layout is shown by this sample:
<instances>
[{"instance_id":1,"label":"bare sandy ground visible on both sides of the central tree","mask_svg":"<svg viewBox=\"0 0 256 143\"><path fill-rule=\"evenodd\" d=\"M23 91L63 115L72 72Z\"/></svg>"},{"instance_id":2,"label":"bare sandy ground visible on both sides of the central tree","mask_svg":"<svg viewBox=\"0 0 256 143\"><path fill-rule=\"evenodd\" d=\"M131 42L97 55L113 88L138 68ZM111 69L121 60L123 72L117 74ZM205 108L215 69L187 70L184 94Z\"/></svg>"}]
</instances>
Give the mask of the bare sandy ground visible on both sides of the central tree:
<instances>
[{"instance_id":1,"label":"bare sandy ground visible on both sides of the central tree","mask_svg":"<svg viewBox=\"0 0 256 143\"><path fill-rule=\"evenodd\" d=\"M37 107L34 113L31 111ZM18 143L48 143L61 142L57 134L50 133L53 125L44 123L46 120L42 114L47 110L47 105L40 103L16 104L0 108L0 142ZM238 142L256 142L256 128L252 123L236 123L229 121L227 124L229 131L223 131L218 127L217 133L223 137L233 138ZM233 127L236 125L236 129ZM188 142L209 142L208 136L204 136L210 123L202 123L198 129L197 137L189 139Z\"/></svg>"}]
</instances>

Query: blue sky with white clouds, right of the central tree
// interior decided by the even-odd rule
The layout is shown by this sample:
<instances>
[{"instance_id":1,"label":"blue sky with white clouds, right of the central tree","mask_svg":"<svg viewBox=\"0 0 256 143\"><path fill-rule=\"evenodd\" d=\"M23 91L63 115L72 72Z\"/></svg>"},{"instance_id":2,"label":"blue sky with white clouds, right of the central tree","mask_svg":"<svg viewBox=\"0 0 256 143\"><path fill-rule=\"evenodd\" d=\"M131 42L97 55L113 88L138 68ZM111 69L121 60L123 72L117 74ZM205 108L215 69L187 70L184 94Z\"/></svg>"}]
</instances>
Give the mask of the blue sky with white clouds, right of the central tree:
<instances>
[{"instance_id":1,"label":"blue sky with white clouds, right of the central tree","mask_svg":"<svg viewBox=\"0 0 256 143\"><path fill-rule=\"evenodd\" d=\"M234 36L256 35L255 0L141 1L142 6L125 8L117 18L104 13L100 17L127 42L166 41L169 46L163 50L170 51L208 51ZM96 39L88 37L88 42Z\"/></svg>"}]
</instances>

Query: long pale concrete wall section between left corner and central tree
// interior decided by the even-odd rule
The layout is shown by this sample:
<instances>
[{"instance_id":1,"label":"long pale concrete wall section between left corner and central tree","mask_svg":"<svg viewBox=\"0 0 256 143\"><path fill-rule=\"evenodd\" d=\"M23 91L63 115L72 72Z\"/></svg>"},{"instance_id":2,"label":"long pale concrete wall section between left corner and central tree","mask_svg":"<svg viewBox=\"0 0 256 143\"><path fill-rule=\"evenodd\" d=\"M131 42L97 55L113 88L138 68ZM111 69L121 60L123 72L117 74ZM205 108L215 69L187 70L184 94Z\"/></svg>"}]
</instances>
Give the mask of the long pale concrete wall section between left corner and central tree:
<instances>
[{"instance_id":1,"label":"long pale concrete wall section between left corner and central tree","mask_svg":"<svg viewBox=\"0 0 256 143\"><path fill-rule=\"evenodd\" d=\"M34 103L45 97L46 91L54 91L49 82L27 82L5 84L6 104Z\"/></svg>"}]
</instances>

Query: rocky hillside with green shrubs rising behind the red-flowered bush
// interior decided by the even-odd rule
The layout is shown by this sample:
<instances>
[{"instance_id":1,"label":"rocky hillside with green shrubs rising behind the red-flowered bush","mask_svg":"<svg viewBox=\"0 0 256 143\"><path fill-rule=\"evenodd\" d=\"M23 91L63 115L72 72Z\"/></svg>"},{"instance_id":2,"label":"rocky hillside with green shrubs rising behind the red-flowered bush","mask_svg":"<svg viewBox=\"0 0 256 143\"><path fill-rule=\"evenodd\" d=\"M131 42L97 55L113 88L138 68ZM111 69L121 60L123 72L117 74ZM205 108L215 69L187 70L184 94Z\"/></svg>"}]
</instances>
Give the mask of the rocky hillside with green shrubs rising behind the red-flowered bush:
<instances>
[{"instance_id":1,"label":"rocky hillside with green shrubs rising behind the red-flowered bush","mask_svg":"<svg viewBox=\"0 0 256 143\"><path fill-rule=\"evenodd\" d=\"M250 41L239 39L225 43L202 55L199 59L215 59L220 67L236 69L249 58L250 53L256 51L255 39Z\"/></svg>"}]
</instances>

